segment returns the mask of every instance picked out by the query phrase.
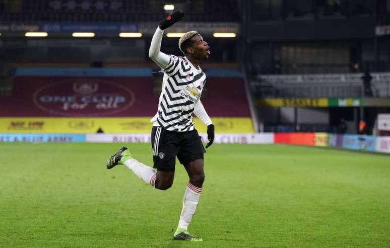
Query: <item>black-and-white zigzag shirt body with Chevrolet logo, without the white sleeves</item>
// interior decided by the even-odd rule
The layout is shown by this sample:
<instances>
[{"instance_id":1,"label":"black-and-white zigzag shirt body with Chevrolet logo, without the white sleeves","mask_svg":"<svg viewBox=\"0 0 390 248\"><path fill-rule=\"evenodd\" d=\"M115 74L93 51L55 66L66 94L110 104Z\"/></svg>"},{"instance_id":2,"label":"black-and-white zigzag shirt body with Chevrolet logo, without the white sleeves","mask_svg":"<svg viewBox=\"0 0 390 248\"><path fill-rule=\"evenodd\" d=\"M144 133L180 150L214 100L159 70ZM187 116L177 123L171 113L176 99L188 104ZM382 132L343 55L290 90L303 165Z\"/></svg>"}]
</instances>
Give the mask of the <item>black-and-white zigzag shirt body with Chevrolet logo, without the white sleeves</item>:
<instances>
[{"instance_id":1,"label":"black-and-white zigzag shirt body with Chevrolet logo, without the white sleeves","mask_svg":"<svg viewBox=\"0 0 390 248\"><path fill-rule=\"evenodd\" d=\"M169 55L169 58L168 66L163 69L158 112L152 121L154 126L169 131L190 131L194 129L194 108L202 104L200 98L206 84L206 74L185 57Z\"/></svg>"}]
</instances>

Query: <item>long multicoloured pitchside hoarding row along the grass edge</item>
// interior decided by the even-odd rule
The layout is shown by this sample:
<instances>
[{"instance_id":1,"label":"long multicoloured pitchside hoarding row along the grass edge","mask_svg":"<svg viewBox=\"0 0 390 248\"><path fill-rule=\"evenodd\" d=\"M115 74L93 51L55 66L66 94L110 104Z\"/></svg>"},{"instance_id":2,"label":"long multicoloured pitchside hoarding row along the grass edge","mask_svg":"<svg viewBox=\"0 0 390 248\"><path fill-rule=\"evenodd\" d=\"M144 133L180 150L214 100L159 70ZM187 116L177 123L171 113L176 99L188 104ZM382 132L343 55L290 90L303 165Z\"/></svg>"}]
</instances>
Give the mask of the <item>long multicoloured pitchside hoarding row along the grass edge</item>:
<instances>
[{"instance_id":1,"label":"long multicoloured pitchside hoarding row along the grass edge","mask_svg":"<svg viewBox=\"0 0 390 248\"><path fill-rule=\"evenodd\" d=\"M207 133L200 133L207 143ZM42 134L0 133L0 142L108 142L150 143L150 133L110 134ZM328 133L217 133L215 143L222 144L299 144L309 146L331 146L354 150L390 153L390 137L368 135L342 135Z\"/></svg>"}]
</instances>

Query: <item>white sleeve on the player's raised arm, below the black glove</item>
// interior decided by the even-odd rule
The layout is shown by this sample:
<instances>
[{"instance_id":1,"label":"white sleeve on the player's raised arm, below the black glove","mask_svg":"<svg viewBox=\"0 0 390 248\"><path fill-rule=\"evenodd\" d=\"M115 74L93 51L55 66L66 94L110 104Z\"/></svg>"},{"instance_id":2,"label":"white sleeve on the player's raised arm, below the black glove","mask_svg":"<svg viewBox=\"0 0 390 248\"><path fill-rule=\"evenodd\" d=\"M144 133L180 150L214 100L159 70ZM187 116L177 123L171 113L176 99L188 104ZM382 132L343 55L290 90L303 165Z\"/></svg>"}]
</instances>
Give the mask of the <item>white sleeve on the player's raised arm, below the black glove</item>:
<instances>
[{"instance_id":1,"label":"white sleeve on the player's raised arm, below the black glove","mask_svg":"<svg viewBox=\"0 0 390 248\"><path fill-rule=\"evenodd\" d=\"M153 35L152 42L149 48L149 57L161 67L161 69L166 69L171 65L172 58L171 56L160 51L161 40L164 34L164 30L157 28L156 32Z\"/></svg>"}]
</instances>

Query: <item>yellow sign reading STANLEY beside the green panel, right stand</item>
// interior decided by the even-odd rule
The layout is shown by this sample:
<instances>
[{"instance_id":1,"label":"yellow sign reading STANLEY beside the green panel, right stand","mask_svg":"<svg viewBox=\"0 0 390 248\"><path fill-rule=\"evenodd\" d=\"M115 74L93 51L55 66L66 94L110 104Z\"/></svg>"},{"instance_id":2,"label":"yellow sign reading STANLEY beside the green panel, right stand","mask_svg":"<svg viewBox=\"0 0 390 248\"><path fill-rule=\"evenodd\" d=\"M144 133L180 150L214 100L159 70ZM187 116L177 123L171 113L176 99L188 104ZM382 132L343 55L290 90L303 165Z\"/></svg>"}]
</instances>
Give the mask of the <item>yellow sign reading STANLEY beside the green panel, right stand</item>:
<instances>
[{"instance_id":1,"label":"yellow sign reading STANLEY beside the green panel, right stand","mask_svg":"<svg viewBox=\"0 0 390 248\"><path fill-rule=\"evenodd\" d=\"M257 99L256 105L261 107L297 107L323 108L328 107L328 98L264 98Z\"/></svg>"}]
</instances>

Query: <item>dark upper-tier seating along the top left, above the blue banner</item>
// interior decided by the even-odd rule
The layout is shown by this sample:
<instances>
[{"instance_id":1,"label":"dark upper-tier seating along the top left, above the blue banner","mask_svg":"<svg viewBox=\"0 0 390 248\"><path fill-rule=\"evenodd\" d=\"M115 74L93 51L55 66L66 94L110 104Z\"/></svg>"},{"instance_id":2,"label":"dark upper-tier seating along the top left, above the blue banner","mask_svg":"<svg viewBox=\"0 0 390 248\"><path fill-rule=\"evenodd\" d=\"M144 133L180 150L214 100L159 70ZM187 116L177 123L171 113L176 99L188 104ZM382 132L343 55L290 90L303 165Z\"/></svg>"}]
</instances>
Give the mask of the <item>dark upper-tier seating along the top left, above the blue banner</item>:
<instances>
[{"instance_id":1,"label":"dark upper-tier seating along the top left, above the blue banner","mask_svg":"<svg viewBox=\"0 0 390 248\"><path fill-rule=\"evenodd\" d=\"M188 12L186 20L191 22L234 22L239 19L238 2L234 0L177 1ZM172 2L170 2L172 3ZM165 1L137 0L37 0L0 5L0 21L3 22L151 22L166 16Z\"/></svg>"}]
</instances>

